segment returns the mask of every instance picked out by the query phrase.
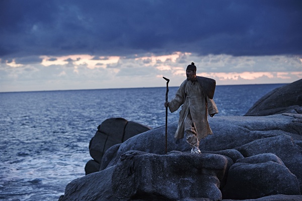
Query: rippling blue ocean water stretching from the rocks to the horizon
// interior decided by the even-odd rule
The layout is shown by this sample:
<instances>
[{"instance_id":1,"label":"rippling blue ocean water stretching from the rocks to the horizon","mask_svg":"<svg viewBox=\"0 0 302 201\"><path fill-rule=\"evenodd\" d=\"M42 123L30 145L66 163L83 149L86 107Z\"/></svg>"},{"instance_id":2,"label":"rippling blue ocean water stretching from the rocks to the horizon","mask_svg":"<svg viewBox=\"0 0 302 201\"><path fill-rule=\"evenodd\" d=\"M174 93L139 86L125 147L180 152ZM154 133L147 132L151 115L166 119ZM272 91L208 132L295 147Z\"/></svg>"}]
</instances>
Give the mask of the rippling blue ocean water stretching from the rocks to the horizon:
<instances>
[{"instance_id":1,"label":"rippling blue ocean water stretching from the rocks to the horizon","mask_svg":"<svg viewBox=\"0 0 302 201\"><path fill-rule=\"evenodd\" d=\"M217 116L242 116L284 84L216 86ZM178 87L169 87L169 99ZM85 176L89 142L104 120L165 125L166 87L0 93L0 199L58 200ZM215 118L215 117L214 117ZM168 115L168 123L178 112Z\"/></svg>"}]
</instances>

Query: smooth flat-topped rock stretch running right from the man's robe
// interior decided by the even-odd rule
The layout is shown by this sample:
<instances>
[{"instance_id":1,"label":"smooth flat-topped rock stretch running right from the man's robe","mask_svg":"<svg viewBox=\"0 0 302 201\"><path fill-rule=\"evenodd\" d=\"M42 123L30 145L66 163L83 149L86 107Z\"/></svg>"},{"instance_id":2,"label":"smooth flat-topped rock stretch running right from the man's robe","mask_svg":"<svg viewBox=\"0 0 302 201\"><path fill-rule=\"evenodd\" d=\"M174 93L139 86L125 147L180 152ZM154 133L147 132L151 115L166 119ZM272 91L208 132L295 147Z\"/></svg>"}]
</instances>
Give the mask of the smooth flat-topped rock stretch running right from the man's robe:
<instances>
[{"instance_id":1,"label":"smooth flat-topped rock stretch running right from the man's robe","mask_svg":"<svg viewBox=\"0 0 302 201\"><path fill-rule=\"evenodd\" d=\"M209 119L213 135L200 141L199 148L207 151L234 149L258 139L288 135L294 142L302 140L302 123L293 122L302 115L289 117L215 117Z\"/></svg>"}]
</instances>

